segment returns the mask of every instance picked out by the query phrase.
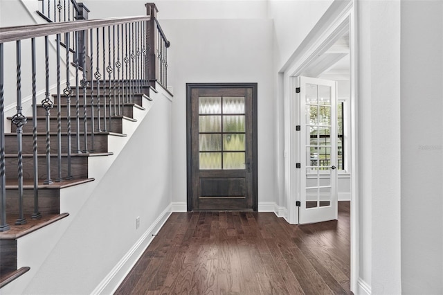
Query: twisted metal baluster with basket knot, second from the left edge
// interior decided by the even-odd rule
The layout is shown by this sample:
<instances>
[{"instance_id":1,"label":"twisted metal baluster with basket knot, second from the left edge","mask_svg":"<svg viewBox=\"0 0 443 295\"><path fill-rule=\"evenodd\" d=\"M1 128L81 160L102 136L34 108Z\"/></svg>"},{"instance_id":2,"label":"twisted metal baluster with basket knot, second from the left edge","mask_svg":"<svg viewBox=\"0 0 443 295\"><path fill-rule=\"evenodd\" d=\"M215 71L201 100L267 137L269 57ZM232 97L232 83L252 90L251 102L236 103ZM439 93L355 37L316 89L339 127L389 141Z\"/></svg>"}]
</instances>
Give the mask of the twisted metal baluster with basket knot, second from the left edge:
<instances>
[{"instance_id":1,"label":"twisted metal baluster with basket knot, second from the left edge","mask_svg":"<svg viewBox=\"0 0 443 295\"><path fill-rule=\"evenodd\" d=\"M21 113L21 42L17 41L17 114L12 116L12 123L17 126L17 145L18 145L18 181L19 181L19 218L15 221L16 225L26 224L23 214L23 125L26 124L26 117Z\"/></svg>"}]
</instances>

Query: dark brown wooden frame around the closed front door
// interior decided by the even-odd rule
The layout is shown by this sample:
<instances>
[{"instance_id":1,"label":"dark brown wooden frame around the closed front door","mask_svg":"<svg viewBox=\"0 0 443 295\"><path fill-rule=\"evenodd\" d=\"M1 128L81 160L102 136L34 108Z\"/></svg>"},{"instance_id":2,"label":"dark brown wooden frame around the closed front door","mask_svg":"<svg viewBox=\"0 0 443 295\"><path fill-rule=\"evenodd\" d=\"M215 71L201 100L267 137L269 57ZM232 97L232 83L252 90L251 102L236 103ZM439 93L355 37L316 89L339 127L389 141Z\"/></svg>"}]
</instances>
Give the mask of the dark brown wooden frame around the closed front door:
<instances>
[{"instance_id":1,"label":"dark brown wooden frame around the closed front door","mask_svg":"<svg viewBox=\"0 0 443 295\"><path fill-rule=\"evenodd\" d=\"M252 165L252 178L253 178L253 211L257 211L257 83L186 83L186 208L187 211L192 211L192 140L191 140L191 93L195 88L251 88L252 89L252 142L253 142L253 165Z\"/></svg>"}]
</instances>

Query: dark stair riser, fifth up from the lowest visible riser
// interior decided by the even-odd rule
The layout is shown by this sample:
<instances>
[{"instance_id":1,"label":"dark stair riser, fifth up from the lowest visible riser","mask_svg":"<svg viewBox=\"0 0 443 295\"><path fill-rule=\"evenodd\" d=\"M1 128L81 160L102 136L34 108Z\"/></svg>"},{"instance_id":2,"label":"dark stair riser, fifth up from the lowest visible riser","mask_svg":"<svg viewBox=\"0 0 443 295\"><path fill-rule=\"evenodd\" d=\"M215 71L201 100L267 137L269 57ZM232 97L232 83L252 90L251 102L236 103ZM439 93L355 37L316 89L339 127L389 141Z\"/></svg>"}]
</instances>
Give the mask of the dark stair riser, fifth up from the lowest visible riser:
<instances>
[{"instance_id":1,"label":"dark stair riser, fifth up from the lowest visible riser","mask_svg":"<svg viewBox=\"0 0 443 295\"><path fill-rule=\"evenodd\" d=\"M123 133L122 129L122 118L112 118L111 119L111 127L109 127L109 119L106 120L107 130L115 133ZM100 126L102 129L105 129L105 120L100 119ZM57 118L51 118L49 128L51 132L57 132ZM68 120L66 118L62 118L62 132L68 132ZM95 129L98 129L98 119L94 120ZM91 119L87 119L87 129L88 132L91 129ZM83 119L80 119L80 132L84 131L84 123ZM11 124L11 132L17 132L17 127L14 124ZM23 132L33 132L33 118L28 118L28 123L23 126ZM46 132L46 120L45 118L37 118L37 132ZM77 122L76 120L71 118L71 134L77 132Z\"/></svg>"}]
</instances>

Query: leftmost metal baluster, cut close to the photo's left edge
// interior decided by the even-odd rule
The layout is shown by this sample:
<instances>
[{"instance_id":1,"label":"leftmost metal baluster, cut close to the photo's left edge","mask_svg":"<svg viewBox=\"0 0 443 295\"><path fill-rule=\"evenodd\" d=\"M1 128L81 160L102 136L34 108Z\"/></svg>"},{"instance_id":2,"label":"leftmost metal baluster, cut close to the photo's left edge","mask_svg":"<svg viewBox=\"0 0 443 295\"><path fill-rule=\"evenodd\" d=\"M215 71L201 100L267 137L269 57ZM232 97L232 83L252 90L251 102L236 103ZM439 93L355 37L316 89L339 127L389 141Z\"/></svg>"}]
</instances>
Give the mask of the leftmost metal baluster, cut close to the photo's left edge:
<instances>
[{"instance_id":1,"label":"leftmost metal baluster, cut close to the photo's left edge","mask_svg":"<svg viewBox=\"0 0 443 295\"><path fill-rule=\"evenodd\" d=\"M6 222L6 174L5 174L5 98L3 95L4 71L3 71L3 43L0 43L0 232L8 231L9 224Z\"/></svg>"}]
</instances>

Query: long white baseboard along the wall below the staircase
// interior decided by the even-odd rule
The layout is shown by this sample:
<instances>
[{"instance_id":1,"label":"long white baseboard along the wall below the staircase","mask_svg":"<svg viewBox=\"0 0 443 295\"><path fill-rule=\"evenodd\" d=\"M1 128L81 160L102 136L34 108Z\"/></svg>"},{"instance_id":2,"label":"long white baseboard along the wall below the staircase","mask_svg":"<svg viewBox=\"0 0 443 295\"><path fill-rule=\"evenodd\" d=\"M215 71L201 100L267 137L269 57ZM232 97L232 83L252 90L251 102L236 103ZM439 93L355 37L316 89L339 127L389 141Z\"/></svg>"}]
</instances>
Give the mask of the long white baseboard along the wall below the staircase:
<instances>
[{"instance_id":1,"label":"long white baseboard along the wall below the staircase","mask_svg":"<svg viewBox=\"0 0 443 295\"><path fill-rule=\"evenodd\" d=\"M143 252L150 245L152 239L154 239L153 234L161 229L170 215L171 205L165 208L150 228L145 231L141 238L129 249L125 256L123 256L91 294L114 294L118 286L123 282L127 274L129 274L129 271L131 271L132 267L134 267Z\"/></svg>"}]
</instances>

